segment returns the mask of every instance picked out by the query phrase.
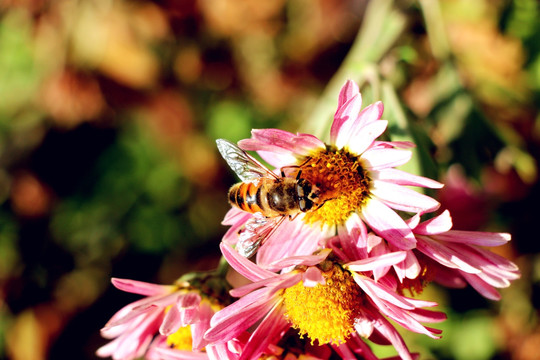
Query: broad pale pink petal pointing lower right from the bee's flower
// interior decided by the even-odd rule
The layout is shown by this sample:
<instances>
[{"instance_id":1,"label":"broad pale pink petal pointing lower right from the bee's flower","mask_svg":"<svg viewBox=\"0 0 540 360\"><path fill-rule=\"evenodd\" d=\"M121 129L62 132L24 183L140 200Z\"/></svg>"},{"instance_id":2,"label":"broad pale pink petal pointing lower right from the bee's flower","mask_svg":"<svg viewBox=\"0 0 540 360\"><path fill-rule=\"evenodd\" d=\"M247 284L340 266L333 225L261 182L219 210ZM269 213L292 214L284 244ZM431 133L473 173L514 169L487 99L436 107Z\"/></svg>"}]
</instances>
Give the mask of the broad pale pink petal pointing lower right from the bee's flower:
<instances>
[{"instance_id":1,"label":"broad pale pink petal pointing lower right from the bee's flower","mask_svg":"<svg viewBox=\"0 0 540 360\"><path fill-rule=\"evenodd\" d=\"M361 216L377 235L398 249L409 250L415 247L416 239L411 229L398 214L382 202L370 199L362 209Z\"/></svg>"}]
</instances>

